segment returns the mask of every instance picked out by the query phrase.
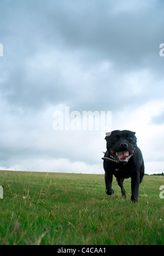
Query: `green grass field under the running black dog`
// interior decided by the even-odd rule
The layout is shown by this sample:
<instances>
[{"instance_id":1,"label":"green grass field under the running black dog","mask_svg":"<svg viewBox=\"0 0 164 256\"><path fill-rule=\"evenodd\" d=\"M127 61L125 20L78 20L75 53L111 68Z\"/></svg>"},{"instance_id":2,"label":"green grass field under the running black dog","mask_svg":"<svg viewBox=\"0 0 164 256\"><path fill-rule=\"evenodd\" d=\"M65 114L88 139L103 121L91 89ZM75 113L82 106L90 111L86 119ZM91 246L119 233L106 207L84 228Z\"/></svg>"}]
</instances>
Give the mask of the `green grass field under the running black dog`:
<instances>
[{"instance_id":1,"label":"green grass field under the running black dog","mask_svg":"<svg viewBox=\"0 0 164 256\"><path fill-rule=\"evenodd\" d=\"M104 175L0 171L0 245L163 245L164 177L145 176L138 203Z\"/></svg>"}]
</instances>

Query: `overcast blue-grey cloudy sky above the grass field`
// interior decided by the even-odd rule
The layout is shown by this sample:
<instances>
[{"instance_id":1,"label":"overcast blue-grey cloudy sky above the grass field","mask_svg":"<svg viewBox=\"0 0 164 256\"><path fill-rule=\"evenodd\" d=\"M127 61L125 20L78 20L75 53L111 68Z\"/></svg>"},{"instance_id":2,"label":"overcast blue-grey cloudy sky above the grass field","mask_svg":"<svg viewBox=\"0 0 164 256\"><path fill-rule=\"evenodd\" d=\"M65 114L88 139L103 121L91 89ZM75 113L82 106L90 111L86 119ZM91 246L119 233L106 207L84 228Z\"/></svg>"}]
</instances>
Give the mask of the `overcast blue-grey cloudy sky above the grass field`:
<instances>
[{"instance_id":1,"label":"overcast blue-grey cloudy sky above the grass field","mask_svg":"<svg viewBox=\"0 0 164 256\"><path fill-rule=\"evenodd\" d=\"M164 171L163 0L0 0L0 169L104 173L105 132L132 130ZM54 112L111 111L104 131ZM72 119L70 119L72 120Z\"/></svg>"}]
</instances>

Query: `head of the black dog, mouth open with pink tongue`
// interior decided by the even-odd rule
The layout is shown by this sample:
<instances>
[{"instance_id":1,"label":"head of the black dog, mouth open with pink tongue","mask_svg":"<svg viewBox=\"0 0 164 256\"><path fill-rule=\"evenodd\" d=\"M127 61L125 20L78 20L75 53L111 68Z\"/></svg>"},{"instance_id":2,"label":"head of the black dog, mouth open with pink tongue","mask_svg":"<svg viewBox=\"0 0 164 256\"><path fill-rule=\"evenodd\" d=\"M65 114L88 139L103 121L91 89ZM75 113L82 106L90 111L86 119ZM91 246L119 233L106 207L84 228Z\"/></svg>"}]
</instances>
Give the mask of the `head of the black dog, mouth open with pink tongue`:
<instances>
[{"instance_id":1,"label":"head of the black dog, mouth open with pink tongue","mask_svg":"<svg viewBox=\"0 0 164 256\"><path fill-rule=\"evenodd\" d=\"M107 150L118 160L127 160L137 148L136 132L115 130L106 133Z\"/></svg>"}]
</instances>

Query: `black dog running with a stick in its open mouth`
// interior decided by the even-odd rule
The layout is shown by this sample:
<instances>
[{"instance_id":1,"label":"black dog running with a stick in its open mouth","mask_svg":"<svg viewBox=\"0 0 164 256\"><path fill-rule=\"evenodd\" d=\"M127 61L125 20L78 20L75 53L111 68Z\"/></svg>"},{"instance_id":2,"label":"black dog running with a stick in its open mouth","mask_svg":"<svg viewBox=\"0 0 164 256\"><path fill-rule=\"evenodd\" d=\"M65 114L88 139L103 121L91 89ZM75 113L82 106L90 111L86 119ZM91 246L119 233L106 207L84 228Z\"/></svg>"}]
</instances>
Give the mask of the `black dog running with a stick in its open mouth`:
<instances>
[{"instance_id":1,"label":"black dog running with a stick in its open mouth","mask_svg":"<svg viewBox=\"0 0 164 256\"><path fill-rule=\"evenodd\" d=\"M123 182L131 177L131 200L138 202L139 184L143 181L144 161L140 149L137 147L135 132L112 131L106 133L107 151L104 154L103 167L105 170L106 193L114 194L112 189L113 174L126 197Z\"/></svg>"}]
</instances>

